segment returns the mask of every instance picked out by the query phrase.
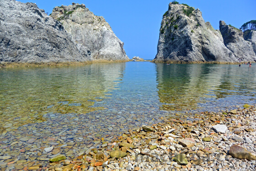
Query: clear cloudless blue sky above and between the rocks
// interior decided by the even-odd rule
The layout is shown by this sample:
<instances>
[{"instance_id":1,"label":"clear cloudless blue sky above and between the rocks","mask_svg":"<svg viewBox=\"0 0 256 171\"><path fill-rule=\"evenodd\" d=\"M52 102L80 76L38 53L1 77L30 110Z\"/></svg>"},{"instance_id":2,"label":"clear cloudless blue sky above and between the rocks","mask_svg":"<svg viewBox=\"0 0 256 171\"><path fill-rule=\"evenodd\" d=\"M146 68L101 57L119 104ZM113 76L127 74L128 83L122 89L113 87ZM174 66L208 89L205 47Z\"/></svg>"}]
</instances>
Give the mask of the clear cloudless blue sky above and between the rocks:
<instances>
[{"instance_id":1,"label":"clear cloudless blue sky above and between the rocks","mask_svg":"<svg viewBox=\"0 0 256 171\"><path fill-rule=\"evenodd\" d=\"M85 4L95 15L103 16L131 59L154 59L162 16L172 0L20 0L33 2L50 14L55 6ZM219 29L219 21L240 28L256 20L256 0L177 0L202 11L204 21Z\"/></svg>"}]
</instances>

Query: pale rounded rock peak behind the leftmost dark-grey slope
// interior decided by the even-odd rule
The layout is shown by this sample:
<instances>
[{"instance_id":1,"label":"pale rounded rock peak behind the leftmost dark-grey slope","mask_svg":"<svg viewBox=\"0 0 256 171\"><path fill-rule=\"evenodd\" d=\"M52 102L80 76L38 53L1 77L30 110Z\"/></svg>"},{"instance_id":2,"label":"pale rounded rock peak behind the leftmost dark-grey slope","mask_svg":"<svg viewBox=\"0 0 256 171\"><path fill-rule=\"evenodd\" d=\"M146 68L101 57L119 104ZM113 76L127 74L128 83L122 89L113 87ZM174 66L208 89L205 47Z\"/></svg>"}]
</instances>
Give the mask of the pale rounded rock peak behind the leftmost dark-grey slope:
<instances>
[{"instance_id":1,"label":"pale rounded rock peak behind the leftmost dark-grey slope","mask_svg":"<svg viewBox=\"0 0 256 171\"><path fill-rule=\"evenodd\" d=\"M51 17L60 21L74 42L91 50L93 59L128 60L123 42L102 16L95 16L85 5L56 6Z\"/></svg>"}]
</instances>

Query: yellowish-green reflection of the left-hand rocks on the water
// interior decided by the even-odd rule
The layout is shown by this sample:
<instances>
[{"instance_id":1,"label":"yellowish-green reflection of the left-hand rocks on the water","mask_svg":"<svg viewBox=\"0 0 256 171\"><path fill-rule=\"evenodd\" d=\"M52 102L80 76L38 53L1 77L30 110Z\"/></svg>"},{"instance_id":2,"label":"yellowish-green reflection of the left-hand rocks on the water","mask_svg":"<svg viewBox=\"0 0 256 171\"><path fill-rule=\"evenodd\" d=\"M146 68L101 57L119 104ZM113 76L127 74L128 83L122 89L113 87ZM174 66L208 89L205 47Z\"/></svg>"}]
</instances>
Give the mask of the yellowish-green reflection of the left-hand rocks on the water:
<instances>
[{"instance_id":1,"label":"yellowish-green reflection of the left-hand rocks on the water","mask_svg":"<svg viewBox=\"0 0 256 171\"><path fill-rule=\"evenodd\" d=\"M91 106L117 88L124 69L122 62L1 70L0 124L17 128L44 121L42 116L48 112L85 114L103 109Z\"/></svg>"}]
</instances>

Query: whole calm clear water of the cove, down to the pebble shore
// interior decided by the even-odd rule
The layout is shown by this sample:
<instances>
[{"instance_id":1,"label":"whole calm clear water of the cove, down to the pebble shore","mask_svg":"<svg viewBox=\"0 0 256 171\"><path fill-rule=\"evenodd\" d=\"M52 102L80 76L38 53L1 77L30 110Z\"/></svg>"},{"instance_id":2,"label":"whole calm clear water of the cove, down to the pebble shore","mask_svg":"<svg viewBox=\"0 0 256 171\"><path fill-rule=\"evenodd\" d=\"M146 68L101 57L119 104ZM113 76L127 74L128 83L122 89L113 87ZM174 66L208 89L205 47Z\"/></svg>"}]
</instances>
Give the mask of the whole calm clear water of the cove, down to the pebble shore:
<instances>
[{"instance_id":1,"label":"whole calm clear water of the cove, down to the pebble shore","mask_svg":"<svg viewBox=\"0 0 256 171\"><path fill-rule=\"evenodd\" d=\"M33 150L74 142L73 150L60 152L73 157L162 116L235 109L255 104L255 95L254 65L123 62L0 69L0 155L50 158ZM25 147L29 153L19 152Z\"/></svg>"}]
</instances>

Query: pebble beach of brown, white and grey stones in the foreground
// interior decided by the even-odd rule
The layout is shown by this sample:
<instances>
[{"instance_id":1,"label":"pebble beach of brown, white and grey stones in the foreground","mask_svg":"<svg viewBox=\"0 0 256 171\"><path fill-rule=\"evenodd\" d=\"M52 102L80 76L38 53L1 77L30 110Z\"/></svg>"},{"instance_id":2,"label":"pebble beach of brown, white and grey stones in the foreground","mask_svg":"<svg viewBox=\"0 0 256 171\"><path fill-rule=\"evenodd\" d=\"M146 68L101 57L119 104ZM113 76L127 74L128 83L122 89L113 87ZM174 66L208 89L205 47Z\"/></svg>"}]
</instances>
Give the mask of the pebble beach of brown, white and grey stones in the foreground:
<instances>
[{"instance_id":1,"label":"pebble beach of brown, white and grey stones in the foreground","mask_svg":"<svg viewBox=\"0 0 256 171\"><path fill-rule=\"evenodd\" d=\"M14 164L15 170L25 171L255 170L255 106L246 104L217 113L176 114L164 120L128 130L108 143L102 138L99 148L91 146L72 160L67 155L55 156L46 166L11 161L6 168L9 156L0 155L0 164L5 164L1 171L9 171L8 166ZM58 154L59 147L43 150Z\"/></svg>"}]
</instances>

